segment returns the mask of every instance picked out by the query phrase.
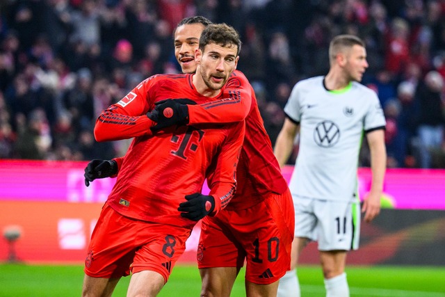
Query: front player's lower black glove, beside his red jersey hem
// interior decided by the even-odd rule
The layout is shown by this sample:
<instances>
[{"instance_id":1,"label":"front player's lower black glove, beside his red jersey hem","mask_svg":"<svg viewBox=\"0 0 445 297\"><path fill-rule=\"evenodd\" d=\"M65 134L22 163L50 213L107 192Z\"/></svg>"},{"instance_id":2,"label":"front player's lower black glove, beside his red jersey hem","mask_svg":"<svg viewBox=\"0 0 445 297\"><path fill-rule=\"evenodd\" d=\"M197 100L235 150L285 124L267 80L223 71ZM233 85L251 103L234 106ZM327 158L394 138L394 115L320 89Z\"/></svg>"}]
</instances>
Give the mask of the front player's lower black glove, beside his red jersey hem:
<instances>
[{"instance_id":1,"label":"front player's lower black glove, beside his red jersey hem","mask_svg":"<svg viewBox=\"0 0 445 297\"><path fill-rule=\"evenodd\" d=\"M194 193L186 195L186 202L179 204L179 211L183 218L190 220L200 220L210 214L215 209L215 198L213 196Z\"/></svg>"}]
</instances>

